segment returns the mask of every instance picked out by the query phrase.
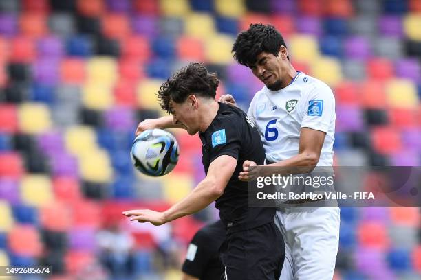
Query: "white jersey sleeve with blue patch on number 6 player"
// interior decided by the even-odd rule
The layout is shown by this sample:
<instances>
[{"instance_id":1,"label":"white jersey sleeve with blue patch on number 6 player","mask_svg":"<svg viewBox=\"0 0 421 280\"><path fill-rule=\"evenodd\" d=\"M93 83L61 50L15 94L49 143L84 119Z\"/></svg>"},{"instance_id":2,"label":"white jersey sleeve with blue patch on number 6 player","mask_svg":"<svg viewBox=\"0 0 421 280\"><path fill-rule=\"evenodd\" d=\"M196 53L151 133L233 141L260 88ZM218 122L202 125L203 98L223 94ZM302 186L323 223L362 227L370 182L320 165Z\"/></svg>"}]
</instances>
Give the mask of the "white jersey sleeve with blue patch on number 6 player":
<instances>
[{"instance_id":1,"label":"white jersey sleeve with blue patch on number 6 player","mask_svg":"<svg viewBox=\"0 0 421 280\"><path fill-rule=\"evenodd\" d=\"M329 86L315 87L305 98L301 114L301 128L312 128L327 133L335 117L335 98Z\"/></svg>"}]
</instances>

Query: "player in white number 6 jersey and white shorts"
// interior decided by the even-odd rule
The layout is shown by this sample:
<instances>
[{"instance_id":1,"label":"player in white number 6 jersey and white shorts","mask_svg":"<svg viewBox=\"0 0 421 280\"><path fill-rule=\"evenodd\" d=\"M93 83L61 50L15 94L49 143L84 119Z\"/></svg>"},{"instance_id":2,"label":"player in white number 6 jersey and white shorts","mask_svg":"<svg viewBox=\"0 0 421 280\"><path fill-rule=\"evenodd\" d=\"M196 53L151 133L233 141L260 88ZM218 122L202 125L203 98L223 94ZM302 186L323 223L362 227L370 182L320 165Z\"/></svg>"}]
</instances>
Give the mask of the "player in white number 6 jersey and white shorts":
<instances>
[{"instance_id":1,"label":"player in white number 6 jersey and white shorts","mask_svg":"<svg viewBox=\"0 0 421 280\"><path fill-rule=\"evenodd\" d=\"M325 83L291 65L288 49L271 25L253 24L241 32L234 57L265 84L253 97L248 117L261 133L268 166L332 166L335 100ZM235 103L224 95L222 101ZM239 178L250 180L248 167ZM338 252L339 209L280 208L277 224L285 240L280 279L332 279Z\"/></svg>"}]
</instances>

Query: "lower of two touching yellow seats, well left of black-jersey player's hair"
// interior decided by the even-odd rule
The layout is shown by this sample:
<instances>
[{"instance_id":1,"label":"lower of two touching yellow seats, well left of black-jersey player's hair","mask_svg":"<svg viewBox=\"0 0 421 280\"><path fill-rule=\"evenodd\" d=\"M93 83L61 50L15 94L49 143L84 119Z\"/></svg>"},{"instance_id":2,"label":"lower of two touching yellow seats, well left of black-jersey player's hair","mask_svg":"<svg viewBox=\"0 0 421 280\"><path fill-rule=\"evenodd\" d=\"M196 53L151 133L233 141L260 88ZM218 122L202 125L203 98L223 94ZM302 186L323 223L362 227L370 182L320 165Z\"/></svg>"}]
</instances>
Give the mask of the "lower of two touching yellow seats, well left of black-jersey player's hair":
<instances>
[{"instance_id":1,"label":"lower of two touching yellow seats, well left of black-jersey player's hair","mask_svg":"<svg viewBox=\"0 0 421 280\"><path fill-rule=\"evenodd\" d=\"M114 105L114 94L111 86L100 82L92 82L83 86L82 100L86 108L107 110Z\"/></svg>"}]
</instances>

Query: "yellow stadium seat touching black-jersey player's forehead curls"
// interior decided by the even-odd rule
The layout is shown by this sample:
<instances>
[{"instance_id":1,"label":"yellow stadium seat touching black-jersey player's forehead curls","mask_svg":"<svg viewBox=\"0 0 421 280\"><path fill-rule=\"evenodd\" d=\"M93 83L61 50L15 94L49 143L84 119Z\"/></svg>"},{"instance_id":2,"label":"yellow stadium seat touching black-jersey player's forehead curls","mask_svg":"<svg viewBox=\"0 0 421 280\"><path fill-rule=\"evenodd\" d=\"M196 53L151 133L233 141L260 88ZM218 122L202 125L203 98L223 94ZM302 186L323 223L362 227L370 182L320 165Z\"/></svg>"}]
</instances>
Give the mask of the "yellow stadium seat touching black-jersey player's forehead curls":
<instances>
[{"instance_id":1,"label":"yellow stadium seat touching black-jersey player's forehead curls","mask_svg":"<svg viewBox=\"0 0 421 280\"><path fill-rule=\"evenodd\" d=\"M138 106L162 111L158 101L157 93L162 84L162 80L142 80L136 91Z\"/></svg>"}]
</instances>

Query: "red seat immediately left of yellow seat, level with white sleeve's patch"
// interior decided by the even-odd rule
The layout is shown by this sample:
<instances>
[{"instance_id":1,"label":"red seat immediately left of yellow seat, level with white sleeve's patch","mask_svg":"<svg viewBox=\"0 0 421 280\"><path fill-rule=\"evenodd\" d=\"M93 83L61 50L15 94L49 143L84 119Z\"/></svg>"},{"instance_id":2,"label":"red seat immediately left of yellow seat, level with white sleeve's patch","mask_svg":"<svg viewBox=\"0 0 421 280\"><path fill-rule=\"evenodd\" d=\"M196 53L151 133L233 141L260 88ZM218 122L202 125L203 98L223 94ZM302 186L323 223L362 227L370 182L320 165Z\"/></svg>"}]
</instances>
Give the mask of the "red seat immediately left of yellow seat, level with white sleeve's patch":
<instances>
[{"instance_id":1,"label":"red seat immediately left of yellow seat, level with white sleeve's patch","mask_svg":"<svg viewBox=\"0 0 421 280\"><path fill-rule=\"evenodd\" d=\"M364 108L384 109L387 107L385 86L382 82L368 80L360 86L360 104Z\"/></svg>"}]
</instances>

